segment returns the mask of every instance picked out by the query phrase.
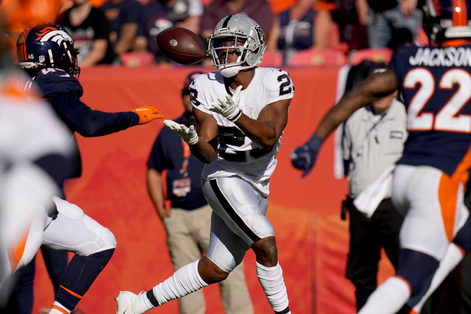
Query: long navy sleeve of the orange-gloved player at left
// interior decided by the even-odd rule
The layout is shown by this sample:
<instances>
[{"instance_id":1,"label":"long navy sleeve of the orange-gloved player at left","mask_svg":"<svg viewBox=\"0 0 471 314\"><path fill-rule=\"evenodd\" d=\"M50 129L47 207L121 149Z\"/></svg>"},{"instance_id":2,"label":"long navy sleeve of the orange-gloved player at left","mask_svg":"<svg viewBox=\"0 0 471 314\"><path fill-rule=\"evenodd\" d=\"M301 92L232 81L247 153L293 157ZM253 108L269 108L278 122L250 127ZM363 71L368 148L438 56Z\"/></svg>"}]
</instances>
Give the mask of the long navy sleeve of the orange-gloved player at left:
<instances>
[{"instance_id":1,"label":"long navy sleeve of the orange-gloved player at left","mask_svg":"<svg viewBox=\"0 0 471 314\"><path fill-rule=\"evenodd\" d=\"M80 83L65 71L44 69L34 81L60 118L72 131L82 136L106 135L139 123L139 116L132 111L104 112L93 110L82 103Z\"/></svg>"}]
</instances>

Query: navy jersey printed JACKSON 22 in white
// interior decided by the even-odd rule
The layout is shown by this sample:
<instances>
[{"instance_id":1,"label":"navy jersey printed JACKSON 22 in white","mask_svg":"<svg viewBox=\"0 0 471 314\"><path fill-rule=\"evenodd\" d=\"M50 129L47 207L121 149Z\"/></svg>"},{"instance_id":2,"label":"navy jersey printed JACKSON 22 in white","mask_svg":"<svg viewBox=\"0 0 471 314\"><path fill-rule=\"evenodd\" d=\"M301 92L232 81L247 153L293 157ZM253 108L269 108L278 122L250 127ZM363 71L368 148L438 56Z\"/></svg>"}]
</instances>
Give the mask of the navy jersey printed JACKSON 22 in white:
<instances>
[{"instance_id":1,"label":"navy jersey printed JACKSON 22 in white","mask_svg":"<svg viewBox=\"0 0 471 314\"><path fill-rule=\"evenodd\" d=\"M409 46L390 67L407 106L409 138L397 162L428 165L449 176L470 165L471 45ZM466 163L466 164L465 164Z\"/></svg>"}]
</instances>

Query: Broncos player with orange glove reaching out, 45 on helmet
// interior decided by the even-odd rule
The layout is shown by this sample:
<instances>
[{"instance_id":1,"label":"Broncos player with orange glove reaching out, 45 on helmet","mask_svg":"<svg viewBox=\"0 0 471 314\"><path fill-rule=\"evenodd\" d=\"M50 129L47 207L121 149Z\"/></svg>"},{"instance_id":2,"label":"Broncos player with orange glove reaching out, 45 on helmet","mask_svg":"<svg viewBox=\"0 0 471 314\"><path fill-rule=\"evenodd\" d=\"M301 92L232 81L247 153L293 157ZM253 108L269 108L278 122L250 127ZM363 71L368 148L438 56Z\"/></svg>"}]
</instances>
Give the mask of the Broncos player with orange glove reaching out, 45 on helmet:
<instances>
[{"instance_id":1,"label":"Broncos player with orange glove reaching out, 45 on helmet","mask_svg":"<svg viewBox=\"0 0 471 314\"><path fill-rule=\"evenodd\" d=\"M83 90L77 80L80 72L77 53L69 33L52 23L26 28L17 42L18 66L31 77L26 89L31 84L40 89L69 127L74 143L74 132L86 137L101 136L163 118L160 110L149 105L128 112L103 112L82 103ZM44 162L54 161L48 159ZM69 163L72 171L58 174L62 181L81 174L78 148ZM57 196L64 198L63 195ZM116 240L108 229L85 215L82 209L59 197L54 197L57 210L44 230L42 245L76 254L66 268L49 312L68 314L111 258Z\"/></svg>"}]
</instances>

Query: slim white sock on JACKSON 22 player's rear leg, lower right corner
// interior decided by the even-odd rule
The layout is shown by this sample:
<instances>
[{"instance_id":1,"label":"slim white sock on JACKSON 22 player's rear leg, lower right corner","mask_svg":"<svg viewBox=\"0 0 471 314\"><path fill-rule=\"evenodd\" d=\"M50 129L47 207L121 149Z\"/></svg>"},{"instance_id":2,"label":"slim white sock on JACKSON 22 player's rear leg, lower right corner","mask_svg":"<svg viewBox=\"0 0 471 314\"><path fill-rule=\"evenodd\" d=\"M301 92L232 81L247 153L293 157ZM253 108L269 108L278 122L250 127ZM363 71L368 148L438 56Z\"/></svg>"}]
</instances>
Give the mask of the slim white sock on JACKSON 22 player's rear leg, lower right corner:
<instances>
[{"instance_id":1,"label":"slim white sock on JACKSON 22 player's rear leg, lower right corner","mask_svg":"<svg viewBox=\"0 0 471 314\"><path fill-rule=\"evenodd\" d=\"M450 243L448 245L445 256L440 261L437 271L435 274L433 274L432 282L430 283L430 287L427 289L425 294L419 293L419 295L410 298L410 300L407 302L407 304L414 310L412 313L420 313L422 306L425 301L427 301L428 297L438 286L440 286L445 277L448 276L450 271L452 271L459 262L461 262L463 257L462 250L456 244Z\"/></svg>"}]
</instances>

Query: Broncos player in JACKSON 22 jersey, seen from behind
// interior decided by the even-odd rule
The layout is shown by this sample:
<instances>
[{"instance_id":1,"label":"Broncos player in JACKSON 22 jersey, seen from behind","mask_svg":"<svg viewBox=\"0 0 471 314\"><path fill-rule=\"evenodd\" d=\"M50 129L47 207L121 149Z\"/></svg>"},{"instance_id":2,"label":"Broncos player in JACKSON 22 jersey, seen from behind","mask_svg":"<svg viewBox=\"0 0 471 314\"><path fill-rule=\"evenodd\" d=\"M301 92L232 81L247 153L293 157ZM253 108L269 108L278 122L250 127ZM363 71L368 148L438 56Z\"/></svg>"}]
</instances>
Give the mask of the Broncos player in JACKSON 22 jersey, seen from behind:
<instances>
[{"instance_id":1,"label":"Broncos player in JACKSON 22 jersey, seen from behind","mask_svg":"<svg viewBox=\"0 0 471 314\"><path fill-rule=\"evenodd\" d=\"M429 293L439 285L471 250L463 203L471 167L471 0L429 0L424 12L431 45L399 49L390 68L347 93L291 156L307 174L340 122L396 89L401 93L409 138L392 179L392 200L405 213L399 263L361 314L396 313L408 300L411 313L419 313L427 288Z\"/></svg>"}]
</instances>

